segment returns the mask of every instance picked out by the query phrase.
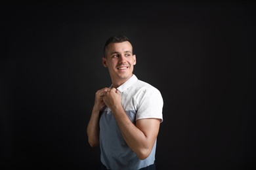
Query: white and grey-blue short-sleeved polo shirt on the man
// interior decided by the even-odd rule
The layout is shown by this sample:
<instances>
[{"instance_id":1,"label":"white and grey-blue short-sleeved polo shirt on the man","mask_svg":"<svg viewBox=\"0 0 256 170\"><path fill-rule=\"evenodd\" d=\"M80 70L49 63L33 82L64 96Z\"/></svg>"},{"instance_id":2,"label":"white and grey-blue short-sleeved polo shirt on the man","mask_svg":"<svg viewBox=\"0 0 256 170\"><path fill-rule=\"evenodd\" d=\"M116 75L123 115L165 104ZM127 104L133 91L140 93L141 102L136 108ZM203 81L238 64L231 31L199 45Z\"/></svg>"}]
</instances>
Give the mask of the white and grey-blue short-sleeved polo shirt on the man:
<instances>
[{"instance_id":1,"label":"white and grey-blue short-sleeved polo shirt on the man","mask_svg":"<svg viewBox=\"0 0 256 170\"><path fill-rule=\"evenodd\" d=\"M157 88L133 75L117 90L121 92L121 104L133 124L142 118L158 118L163 122L163 98ZM134 170L154 163L156 142L150 156L139 160L125 143L111 110L105 107L100 113L100 160L108 169Z\"/></svg>"}]
</instances>

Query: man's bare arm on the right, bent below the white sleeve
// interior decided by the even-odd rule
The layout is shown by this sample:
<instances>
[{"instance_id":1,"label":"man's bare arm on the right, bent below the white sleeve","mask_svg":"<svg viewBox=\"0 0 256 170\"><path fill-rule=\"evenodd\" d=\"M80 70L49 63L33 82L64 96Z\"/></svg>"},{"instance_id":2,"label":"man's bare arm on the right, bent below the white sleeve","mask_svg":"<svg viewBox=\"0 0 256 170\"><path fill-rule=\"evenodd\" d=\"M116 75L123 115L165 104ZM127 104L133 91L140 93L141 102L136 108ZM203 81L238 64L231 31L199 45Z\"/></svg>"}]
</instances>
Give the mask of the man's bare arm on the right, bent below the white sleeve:
<instances>
[{"instance_id":1,"label":"man's bare arm on the right, bent below the white sleeve","mask_svg":"<svg viewBox=\"0 0 256 170\"><path fill-rule=\"evenodd\" d=\"M137 120L136 124L133 124L125 113L125 110L123 110L121 94L118 90L116 92L114 88L106 93L103 99L106 105L112 110L125 142L137 154L140 160L146 159L156 142L160 129L160 119L140 119Z\"/></svg>"}]
</instances>

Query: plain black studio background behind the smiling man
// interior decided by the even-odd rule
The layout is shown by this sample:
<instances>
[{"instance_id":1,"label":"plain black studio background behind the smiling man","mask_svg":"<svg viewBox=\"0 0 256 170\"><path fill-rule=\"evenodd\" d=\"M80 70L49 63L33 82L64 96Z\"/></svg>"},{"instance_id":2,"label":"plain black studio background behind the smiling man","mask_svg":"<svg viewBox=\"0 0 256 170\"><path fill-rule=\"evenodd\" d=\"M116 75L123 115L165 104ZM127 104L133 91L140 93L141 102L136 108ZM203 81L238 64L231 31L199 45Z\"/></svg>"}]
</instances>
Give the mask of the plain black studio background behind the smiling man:
<instances>
[{"instance_id":1,"label":"plain black studio background behind the smiling man","mask_svg":"<svg viewBox=\"0 0 256 170\"><path fill-rule=\"evenodd\" d=\"M1 4L0 169L98 169L86 128L110 86L104 42L124 34L160 90L157 169L255 167L255 3Z\"/></svg>"}]
</instances>

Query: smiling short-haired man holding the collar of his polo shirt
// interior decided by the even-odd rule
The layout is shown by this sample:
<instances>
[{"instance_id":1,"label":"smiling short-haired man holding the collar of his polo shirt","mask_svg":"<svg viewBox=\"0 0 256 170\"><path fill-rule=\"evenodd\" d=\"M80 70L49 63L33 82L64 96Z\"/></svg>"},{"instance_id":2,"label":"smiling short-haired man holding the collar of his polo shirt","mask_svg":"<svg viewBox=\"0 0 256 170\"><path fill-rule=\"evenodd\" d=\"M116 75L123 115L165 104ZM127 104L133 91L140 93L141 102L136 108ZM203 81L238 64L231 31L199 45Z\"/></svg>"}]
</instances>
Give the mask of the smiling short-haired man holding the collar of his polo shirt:
<instances>
[{"instance_id":1,"label":"smiling short-haired man holding the collar of his polo shirt","mask_svg":"<svg viewBox=\"0 0 256 170\"><path fill-rule=\"evenodd\" d=\"M156 169L156 139L163 121L160 91L133 74L136 56L123 35L106 41L102 63L112 85L96 92L87 127L89 144L100 146L100 169Z\"/></svg>"}]
</instances>

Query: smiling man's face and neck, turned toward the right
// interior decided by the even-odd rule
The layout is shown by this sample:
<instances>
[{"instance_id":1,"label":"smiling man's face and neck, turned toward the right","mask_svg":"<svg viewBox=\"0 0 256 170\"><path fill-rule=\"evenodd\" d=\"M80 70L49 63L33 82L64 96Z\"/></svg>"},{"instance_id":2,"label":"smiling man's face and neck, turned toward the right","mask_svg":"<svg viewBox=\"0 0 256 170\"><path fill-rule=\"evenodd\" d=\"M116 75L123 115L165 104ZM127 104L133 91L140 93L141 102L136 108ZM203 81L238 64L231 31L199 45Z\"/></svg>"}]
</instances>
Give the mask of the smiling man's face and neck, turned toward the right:
<instances>
[{"instance_id":1,"label":"smiling man's face and neck, turned toward the right","mask_svg":"<svg viewBox=\"0 0 256 170\"><path fill-rule=\"evenodd\" d=\"M133 47L129 41L108 44L105 55L102 63L104 67L108 67L112 83L121 85L133 75L136 56L133 55Z\"/></svg>"}]
</instances>

